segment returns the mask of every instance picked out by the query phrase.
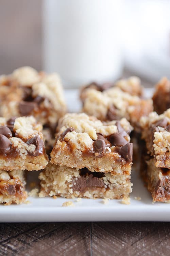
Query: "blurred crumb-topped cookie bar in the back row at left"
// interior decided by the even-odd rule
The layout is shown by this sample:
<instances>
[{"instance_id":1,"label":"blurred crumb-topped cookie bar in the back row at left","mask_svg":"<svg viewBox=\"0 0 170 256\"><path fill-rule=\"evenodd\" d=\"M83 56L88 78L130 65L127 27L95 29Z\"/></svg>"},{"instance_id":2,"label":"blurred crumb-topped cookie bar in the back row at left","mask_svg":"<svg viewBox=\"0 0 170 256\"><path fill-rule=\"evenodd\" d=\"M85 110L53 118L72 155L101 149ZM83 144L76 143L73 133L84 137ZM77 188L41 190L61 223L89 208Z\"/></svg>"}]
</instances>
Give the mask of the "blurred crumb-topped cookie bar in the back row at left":
<instances>
[{"instance_id":1,"label":"blurred crumb-topped cookie bar in the back row at left","mask_svg":"<svg viewBox=\"0 0 170 256\"><path fill-rule=\"evenodd\" d=\"M43 125L54 126L66 113L60 77L31 67L0 76L0 116L33 115Z\"/></svg>"}]
</instances>

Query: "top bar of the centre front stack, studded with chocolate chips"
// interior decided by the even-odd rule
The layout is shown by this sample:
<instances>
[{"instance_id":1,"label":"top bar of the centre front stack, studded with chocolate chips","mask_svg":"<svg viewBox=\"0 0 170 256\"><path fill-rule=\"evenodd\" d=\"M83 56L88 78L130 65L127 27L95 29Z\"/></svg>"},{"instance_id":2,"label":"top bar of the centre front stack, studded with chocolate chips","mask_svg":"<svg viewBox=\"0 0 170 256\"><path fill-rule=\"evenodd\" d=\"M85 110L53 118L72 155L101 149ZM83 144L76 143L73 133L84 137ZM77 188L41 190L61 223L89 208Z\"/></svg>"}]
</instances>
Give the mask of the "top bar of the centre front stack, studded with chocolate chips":
<instances>
[{"instance_id":1,"label":"top bar of the centre front stack, studded with chocolate chips","mask_svg":"<svg viewBox=\"0 0 170 256\"><path fill-rule=\"evenodd\" d=\"M66 114L58 122L51 162L89 171L130 174L133 145L132 127L120 121L102 123L85 113Z\"/></svg>"}]
</instances>

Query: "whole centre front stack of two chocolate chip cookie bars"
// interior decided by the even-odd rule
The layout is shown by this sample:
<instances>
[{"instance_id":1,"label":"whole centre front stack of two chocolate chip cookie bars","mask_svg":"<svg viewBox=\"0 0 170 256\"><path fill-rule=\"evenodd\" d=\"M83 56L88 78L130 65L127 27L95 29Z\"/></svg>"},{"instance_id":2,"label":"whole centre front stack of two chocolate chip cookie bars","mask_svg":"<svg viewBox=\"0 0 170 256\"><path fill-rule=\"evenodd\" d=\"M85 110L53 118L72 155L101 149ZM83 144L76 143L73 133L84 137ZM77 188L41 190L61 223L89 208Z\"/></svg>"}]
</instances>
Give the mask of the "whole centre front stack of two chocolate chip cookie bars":
<instances>
[{"instance_id":1,"label":"whole centre front stack of two chocolate chip cookie bars","mask_svg":"<svg viewBox=\"0 0 170 256\"><path fill-rule=\"evenodd\" d=\"M51 161L40 173L40 197L121 198L132 191L132 127L85 113L59 120Z\"/></svg>"}]
</instances>

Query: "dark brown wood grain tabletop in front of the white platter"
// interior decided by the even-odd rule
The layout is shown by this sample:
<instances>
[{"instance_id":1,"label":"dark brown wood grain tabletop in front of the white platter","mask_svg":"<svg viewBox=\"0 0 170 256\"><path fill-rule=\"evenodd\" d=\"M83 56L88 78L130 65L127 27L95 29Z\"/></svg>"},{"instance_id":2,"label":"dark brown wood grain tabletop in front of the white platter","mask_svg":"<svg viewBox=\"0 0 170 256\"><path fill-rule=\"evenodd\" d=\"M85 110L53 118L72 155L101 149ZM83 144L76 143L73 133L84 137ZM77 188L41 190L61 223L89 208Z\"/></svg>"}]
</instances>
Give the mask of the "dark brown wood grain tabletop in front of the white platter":
<instances>
[{"instance_id":1,"label":"dark brown wood grain tabletop in front of the white platter","mask_svg":"<svg viewBox=\"0 0 170 256\"><path fill-rule=\"evenodd\" d=\"M0 255L170 255L170 223L0 224Z\"/></svg>"}]
</instances>

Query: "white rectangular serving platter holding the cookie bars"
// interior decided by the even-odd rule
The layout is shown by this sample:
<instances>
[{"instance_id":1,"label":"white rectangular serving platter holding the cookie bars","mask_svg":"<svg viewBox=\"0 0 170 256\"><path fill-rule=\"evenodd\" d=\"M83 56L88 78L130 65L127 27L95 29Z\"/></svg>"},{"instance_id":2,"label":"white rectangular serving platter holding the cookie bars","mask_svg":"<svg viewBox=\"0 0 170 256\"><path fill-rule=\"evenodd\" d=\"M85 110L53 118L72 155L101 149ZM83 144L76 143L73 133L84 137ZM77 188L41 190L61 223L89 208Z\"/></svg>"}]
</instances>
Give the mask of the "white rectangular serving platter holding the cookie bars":
<instances>
[{"instance_id":1,"label":"white rectangular serving platter holding the cookie bars","mask_svg":"<svg viewBox=\"0 0 170 256\"><path fill-rule=\"evenodd\" d=\"M146 90L151 95L152 89ZM66 99L69 111L80 111L81 103L77 90L67 90ZM38 172L29 172L28 179L37 179ZM139 177L138 170L132 171L133 192L131 204L122 200L102 199L34 198L28 197L29 204L0 205L0 222L72 222L72 221L170 221L170 204L152 203L152 197ZM141 197L141 200L135 200ZM63 202L72 201L74 207L62 207Z\"/></svg>"}]
</instances>

